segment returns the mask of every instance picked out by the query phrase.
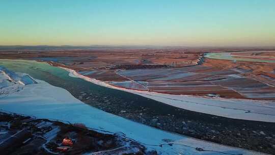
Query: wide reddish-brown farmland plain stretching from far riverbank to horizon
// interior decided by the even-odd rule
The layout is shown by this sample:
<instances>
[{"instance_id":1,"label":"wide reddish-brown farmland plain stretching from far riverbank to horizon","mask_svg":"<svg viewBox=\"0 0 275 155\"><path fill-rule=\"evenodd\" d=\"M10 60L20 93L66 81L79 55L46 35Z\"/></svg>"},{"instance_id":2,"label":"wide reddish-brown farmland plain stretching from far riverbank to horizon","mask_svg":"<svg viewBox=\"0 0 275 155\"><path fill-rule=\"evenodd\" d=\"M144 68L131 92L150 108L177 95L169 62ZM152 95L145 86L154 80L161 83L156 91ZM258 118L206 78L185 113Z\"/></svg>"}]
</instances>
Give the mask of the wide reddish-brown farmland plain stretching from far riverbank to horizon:
<instances>
[{"instance_id":1,"label":"wide reddish-brown farmland plain stretching from far riverbank to horizon","mask_svg":"<svg viewBox=\"0 0 275 155\"><path fill-rule=\"evenodd\" d=\"M234 57L274 60L255 49L25 49L1 59L47 61L117 87L169 94L275 99L275 63L204 58L206 52L251 51ZM256 50L255 50L256 51Z\"/></svg>"}]
</instances>

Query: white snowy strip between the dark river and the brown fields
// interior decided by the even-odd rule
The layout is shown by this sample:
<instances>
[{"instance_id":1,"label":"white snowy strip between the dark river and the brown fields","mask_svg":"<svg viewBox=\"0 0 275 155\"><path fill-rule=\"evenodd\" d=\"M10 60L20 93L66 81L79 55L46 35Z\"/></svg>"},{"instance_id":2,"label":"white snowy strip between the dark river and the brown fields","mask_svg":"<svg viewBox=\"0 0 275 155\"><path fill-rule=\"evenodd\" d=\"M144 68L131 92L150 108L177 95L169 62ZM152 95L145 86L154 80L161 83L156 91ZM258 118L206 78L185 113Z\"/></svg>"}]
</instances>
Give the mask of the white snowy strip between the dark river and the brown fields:
<instances>
[{"instance_id":1,"label":"white snowy strip between the dark river and the brown fields","mask_svg":"<svg viewBox=\"0 0 275 155\"><path fill-rule=\"evenodd\" d=\"M228 118L275 122L275 101L226 99L219 97L195 97L190 95L172 95L149 91L131 90L115 87L102 81L91 79L87 76L77 73L72 69L63 69L69 71L69 75L72 77L79 77L100 86L119 89L141 95L174 107Z\"/></svg>"}]
</instances>

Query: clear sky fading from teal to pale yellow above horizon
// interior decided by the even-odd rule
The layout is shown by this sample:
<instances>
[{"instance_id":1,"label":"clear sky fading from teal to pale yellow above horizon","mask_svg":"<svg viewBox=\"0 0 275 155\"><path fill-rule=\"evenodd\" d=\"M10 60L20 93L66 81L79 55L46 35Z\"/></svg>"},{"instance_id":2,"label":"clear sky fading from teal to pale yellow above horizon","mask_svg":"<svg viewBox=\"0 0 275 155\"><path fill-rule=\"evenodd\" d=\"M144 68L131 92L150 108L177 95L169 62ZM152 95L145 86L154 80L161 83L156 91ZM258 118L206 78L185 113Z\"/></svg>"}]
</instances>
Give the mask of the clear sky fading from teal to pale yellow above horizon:
<instances>
[{"instance_id":1,"label":"clear sky fading from teal to pale yellow above horizon","mask_svg":"<svg viewBox=\"0 0 275 155\"><path fill-rule=\"evenodd\" d=\"M0 45L275 46L275 1L1 0Z\"/></svg>"}]
</instances>

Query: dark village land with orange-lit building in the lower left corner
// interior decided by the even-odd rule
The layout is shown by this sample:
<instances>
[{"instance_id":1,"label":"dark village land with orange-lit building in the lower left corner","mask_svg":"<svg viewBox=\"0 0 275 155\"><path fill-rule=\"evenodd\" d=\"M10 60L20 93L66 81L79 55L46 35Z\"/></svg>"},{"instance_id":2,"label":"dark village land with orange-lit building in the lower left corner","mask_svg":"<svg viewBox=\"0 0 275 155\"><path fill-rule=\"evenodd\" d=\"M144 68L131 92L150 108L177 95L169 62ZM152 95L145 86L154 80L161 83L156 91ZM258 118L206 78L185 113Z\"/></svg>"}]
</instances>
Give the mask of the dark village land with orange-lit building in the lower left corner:
<instances>
[{"instance_id":1,"label":"dark village land with orange-lit building in the lower left corner","mask_svg":"<svg viewBox=\"0 0 275 155\"><path fill-rule=\"evenodd\" d=\"M90 130L82 123L0 112L1 154L156 154L121 134Z\"/></svg>"}]
</instances>

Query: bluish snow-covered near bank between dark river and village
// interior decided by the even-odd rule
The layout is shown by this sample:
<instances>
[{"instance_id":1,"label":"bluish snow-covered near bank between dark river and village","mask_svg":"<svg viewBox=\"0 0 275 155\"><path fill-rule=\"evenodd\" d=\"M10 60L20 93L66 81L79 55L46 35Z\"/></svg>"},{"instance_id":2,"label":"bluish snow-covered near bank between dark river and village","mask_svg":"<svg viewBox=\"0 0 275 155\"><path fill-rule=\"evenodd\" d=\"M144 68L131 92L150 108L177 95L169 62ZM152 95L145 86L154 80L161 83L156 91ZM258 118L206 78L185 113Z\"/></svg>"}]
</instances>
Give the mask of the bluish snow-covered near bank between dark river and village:
<instances>
[{"instance_id":1,"label":"bluish snow-covered near bank between dark river and village","mask_svg":"<svg viewBox=\"0 0 275 155\"><path fill-rule=\"evenodd\" d=\"M4 74L0 74L0 82L7 80L3 76ZM161 154L264 154L201 141L136 123L86 105L65 89L36 81L37 84L22 85L22 89L9 92L3 98L0 96L0 109L37 118L81 122L88 127L113 133L123 132L128 138L144 143L149 149L156 149ZM160 144L162 147L158 146ZM205 151L198 151L196 148Z\"/></svg>"}]
</instances>

